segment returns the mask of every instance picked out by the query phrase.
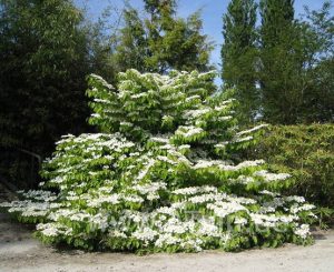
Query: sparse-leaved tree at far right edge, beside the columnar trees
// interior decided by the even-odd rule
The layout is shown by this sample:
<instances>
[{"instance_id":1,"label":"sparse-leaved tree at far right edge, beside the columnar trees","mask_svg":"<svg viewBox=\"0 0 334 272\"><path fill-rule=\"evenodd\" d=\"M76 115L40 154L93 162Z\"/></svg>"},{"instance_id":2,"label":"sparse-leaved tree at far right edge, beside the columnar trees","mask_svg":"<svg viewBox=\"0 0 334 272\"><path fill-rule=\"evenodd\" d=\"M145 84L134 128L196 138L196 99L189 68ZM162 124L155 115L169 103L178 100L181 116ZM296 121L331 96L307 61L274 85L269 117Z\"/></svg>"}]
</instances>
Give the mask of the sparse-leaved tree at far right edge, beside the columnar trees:
<instances>
[{"instance_id":1,"label":"sparse-leaved tree at far right edge, beside the columnar trees","mask_svg":"<svg viewBox=\"0 0 334 272\"><path fill-rule=\"evenodd\" d=\"M334 17L333 4L324 2L322 9L311 11L306 8L304 39L308 49L310 88L306 90L304 111L305 122L334 121ZM307 39L308 38L308 39Z\"/></svg>"}]
</instances>

